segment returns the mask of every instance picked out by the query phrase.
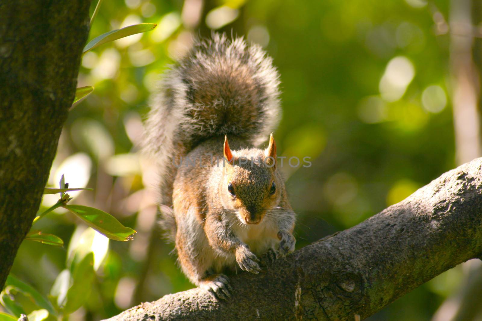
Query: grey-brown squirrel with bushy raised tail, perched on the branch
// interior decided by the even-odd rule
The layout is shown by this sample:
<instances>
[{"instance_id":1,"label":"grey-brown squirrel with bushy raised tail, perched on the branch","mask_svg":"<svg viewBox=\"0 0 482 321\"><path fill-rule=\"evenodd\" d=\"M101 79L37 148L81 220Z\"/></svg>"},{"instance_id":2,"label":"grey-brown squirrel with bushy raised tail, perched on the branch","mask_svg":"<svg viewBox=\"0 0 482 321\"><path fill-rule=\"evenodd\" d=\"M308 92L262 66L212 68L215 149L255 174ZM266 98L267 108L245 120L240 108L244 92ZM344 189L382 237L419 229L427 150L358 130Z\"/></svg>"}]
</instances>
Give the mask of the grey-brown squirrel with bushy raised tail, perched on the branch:
<instances>
[{"instance_id":1,"label":"grey-brown squirrel with bushy raised tail, perched on the branch","mask_svg":"<svg viewBox=\"0 0 482 321\"><path fill-rule=\"evenodd\" d=\"M231 295L223 273L258 273L261 255L295 250L295 213L271 133L279 84L260 46L213 34L164 73L147 117L161 226L187 278L216 299ZM257 148L269 133L268 147Z\"/></svg>"}]
</instances>

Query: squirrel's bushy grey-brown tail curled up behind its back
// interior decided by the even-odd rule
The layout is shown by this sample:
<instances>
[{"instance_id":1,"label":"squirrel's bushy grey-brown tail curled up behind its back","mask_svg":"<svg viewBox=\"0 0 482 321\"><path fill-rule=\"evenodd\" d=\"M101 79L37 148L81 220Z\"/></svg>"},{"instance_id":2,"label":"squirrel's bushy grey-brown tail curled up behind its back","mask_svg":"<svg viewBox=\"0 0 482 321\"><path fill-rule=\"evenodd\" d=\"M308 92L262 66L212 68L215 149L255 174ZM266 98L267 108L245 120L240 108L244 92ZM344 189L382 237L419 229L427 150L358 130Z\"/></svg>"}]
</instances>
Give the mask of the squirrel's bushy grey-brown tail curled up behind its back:
<instances>
[{"instance_id":1,"label":"squirrel's bushy grey-brown tail curled up behind its back","mask_svg":"<svg viewBox=\"0 0 482 321\"><path fill-rule=\"evenodd\" d=\"M208 138L266 141L281 116L279 75L258 45L242 38L197 42L165 72L146 124L144 150L157 161L160 200L172 206L175 164Z\"/></svg>"}]
</instances>

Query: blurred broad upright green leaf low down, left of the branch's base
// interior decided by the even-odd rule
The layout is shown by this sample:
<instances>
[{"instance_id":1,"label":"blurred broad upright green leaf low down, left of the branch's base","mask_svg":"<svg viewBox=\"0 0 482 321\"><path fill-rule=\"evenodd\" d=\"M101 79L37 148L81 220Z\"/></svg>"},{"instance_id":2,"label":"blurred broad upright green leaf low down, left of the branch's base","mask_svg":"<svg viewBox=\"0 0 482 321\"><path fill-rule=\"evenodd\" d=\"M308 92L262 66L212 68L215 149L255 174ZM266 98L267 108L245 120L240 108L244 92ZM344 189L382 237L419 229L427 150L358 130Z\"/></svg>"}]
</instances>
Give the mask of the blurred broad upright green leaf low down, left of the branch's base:
<instances>
[{"instance_id":1,"label":"blurred broad upright green leaf low down, left of the branch's base","mask_svg":"<svg viewBox=\"0 0 482 321\"><path fill-rule=\"evenodd\" d=\"M87 301L94 281L94 253L87 254L72 273L73 283L67 291L64 313L72 313Z\"/></svg>"}]
</instances>

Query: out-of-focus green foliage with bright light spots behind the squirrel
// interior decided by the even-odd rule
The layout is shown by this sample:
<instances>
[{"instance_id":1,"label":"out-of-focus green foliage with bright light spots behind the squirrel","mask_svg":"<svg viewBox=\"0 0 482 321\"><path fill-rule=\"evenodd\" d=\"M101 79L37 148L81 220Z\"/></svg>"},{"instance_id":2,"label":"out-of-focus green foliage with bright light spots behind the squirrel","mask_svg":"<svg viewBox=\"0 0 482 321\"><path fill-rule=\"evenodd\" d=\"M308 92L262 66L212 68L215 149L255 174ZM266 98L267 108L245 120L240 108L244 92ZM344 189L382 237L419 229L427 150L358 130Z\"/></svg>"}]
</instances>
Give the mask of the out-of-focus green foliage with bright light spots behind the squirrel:
<instances>
[{"instance_id":1,"label":"out-of-focus green foliage with bright light spots behind the squirrel","mask_svg":"<svg viewBox=\"0 0 482 321\"><path fill-rule=\"evenodd\" d=\"M103 1L89 40L133 24L158 27L83 56L78 87L94 91L70 111L49 184L65 174L71 187L94 189L70 193L69 204L104 210L137 234L109 243L60 207L36 228L65 247L26 241L12 273L60 303L59 279L90 275L89 266L92 286L69 307L69 320L100 320L192 287L173 246L161 240L155 168L138 145L156 80L210 28L261 44L280 70L278 150L312 157L312 167L285 173L298 213L297 248L402 200L455 167L449 37L436 34L432 18L434 11L446 17L448 7L446 0ZM50 196L40 212L56 202ZM73 260L90 263L72 270ZM462 278L460 268L448 271L370 320L430 320Z\"/></svg>"}]
</instances>

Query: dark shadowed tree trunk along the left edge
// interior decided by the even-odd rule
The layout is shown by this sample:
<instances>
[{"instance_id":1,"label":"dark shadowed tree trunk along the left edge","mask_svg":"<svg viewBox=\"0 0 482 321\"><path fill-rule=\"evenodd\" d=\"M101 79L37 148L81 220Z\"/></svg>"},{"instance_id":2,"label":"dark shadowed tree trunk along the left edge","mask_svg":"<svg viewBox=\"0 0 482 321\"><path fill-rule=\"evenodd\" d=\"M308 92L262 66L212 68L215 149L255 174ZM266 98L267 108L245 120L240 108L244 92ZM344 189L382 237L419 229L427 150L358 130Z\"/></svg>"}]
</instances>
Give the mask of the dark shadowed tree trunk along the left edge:
<instances>
[{"instance_id":1,"label":"dark shadowed tree trunk along the left edge","mask_svg":"<svg viewBox=\"0 0 482 321\"><path fill-rule=\"evenodd\" d=\"M74 99L89 5L0 1L0 289L39 209Z\"/></svg>"}]
</instances>

